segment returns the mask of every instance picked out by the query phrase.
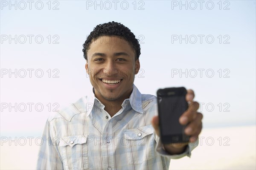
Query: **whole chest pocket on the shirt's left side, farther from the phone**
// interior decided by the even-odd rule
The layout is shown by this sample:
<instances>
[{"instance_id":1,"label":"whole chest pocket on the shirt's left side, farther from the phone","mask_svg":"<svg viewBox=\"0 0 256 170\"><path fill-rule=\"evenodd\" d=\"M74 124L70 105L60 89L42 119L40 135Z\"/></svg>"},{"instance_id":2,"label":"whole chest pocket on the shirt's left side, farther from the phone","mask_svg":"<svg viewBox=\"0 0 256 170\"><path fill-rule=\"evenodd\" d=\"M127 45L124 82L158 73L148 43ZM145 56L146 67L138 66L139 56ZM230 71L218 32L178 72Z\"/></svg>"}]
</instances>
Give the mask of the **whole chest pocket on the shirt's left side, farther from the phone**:
<instances>
[{"instance_id":1,"label":"whole chest pocket on the shirt's left side, farther from the phone","mask_svg":"<svg viewBox=\"0 0 256 170\"><path fill-rule=\"evenodd\" d=\"M59 148L64 169L88 169L87 136L65 136L60 139Z\"/></svg>"}]
</instances>

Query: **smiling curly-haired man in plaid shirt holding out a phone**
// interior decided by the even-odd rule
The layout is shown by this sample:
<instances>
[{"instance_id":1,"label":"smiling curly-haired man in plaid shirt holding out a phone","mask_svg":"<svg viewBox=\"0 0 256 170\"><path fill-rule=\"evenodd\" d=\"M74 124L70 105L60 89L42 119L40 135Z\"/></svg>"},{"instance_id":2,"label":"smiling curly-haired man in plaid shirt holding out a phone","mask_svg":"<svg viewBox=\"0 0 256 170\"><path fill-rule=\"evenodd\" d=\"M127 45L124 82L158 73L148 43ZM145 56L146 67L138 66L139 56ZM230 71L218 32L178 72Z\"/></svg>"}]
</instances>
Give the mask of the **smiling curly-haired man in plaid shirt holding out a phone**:
<instances>
[{"instance_id":1,"label":"smiling curly-haired man in plaid shirt holding out a phone","mask_svg":"<svg viewBox=\"0 0 256 170\"><path fill-rule=\"evenodd\" d=\"M83 45L92 95L49 117L38 169L169 169L170 159L190 156L196 144L166 144L159 138L157 101L133 84L140 70L140 44L120 23L96 26ZM180 117L195 142L202 128L193 91ZM49 141L49 143L48 143Z\"/></svg>"}]
</instances>

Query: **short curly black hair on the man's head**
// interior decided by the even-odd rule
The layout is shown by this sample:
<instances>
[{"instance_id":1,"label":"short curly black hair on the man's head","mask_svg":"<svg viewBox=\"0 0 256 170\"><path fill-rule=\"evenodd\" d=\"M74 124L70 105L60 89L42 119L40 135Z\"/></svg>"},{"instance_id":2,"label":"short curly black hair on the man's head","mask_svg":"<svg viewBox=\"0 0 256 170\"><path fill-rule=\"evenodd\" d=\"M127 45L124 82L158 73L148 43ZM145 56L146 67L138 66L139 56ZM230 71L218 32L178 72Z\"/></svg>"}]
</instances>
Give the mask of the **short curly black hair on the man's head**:
<instances>
[{"instance_id":1,"label":"short curly black hair on the man's head","mask_svg":"<svg viewBox=\"0 0 256 170\"><path fill-rule=\"evenodd\" d=\"M116 23L114 21L104 24L99 24L90 35L87 37L87 40L83 44L84 59L87 60L87 51L90 48L90 44L93 40L96 40L102 36L118 36L126 40L132 48L134 48L135 57L139 59L140 57L140 44L139 41L135 38L135 35L131 32L129 28L122 25L121 23Z\"/></svg>"}]
</instances>

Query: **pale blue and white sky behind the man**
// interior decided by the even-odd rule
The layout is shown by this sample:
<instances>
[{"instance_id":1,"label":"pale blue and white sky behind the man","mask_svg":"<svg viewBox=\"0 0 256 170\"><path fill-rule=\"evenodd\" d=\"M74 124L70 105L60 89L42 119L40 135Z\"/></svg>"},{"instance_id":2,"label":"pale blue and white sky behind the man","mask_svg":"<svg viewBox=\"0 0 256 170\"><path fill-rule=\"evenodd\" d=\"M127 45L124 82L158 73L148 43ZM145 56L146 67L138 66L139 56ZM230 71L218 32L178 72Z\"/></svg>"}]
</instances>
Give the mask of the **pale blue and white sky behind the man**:
<instances>
[{"instance_id":1,"label":"pale blue and white sky behind the man","mask_svg":"<svg viewBox=\"0 0 256 170\"><path fill-rule=\"evenodd\" d=\"M214 4L212 10L206 8L208 1L203 3L202 9L197 3L195 10L189 6L188 10L185 7L180 10L180 6L173 6L172 10L172 4L180 1L136 1L136 10L134 1L125 1L129 4L127 10L122 9L125 8L124 1L119 1L116 10L113 1L109 1L112 4L110 10L104 8L105 1L102 1L102 10L100 6L96 6L95 10L94 4L87 6L94 1L51 1L51 8L57 5L59 10L49 10L48 1L42 1L44 7L41 10L35 8L35 3L32 3L31 10L29 3L21 10L23 4L18 6L19 1L16 2L17 10L14 6L9 9L9 4L6 6L9 1L1 1L1 71L42 69L44 76L37 78L32 72L32 78L29 75L25 78L12 75L9 78L9 74L4 74L0 83L1 103L42 103L44 110L36 111L33 105L31 112L29 108L24 112L15 112L14 109L10 112L9 107L2 107L1 135L10 132L41 134L49 114L48 103L58 103L61 108L90 93L82 44L96 25L109 21L121 22L136 37L144 38L141 44L140 77L137 75L134 82L142 93L155 95L158 88L184 86L195 91L196 101L205 103L201 108L204 127L255 125L255 1L221 1L221 10L219 1L211 1ZM138 10L139 6L144 9ZM223 10L224 6L230 9ZM24 44L15 44L14 40L11 43L4 40L9 35L34 37L31 44L29 37ZM41 44L35 42L37 35L44 38ZM59 44L49 44L48 35L51 35L51 40L58 37ZM195 35L198 41L195 44L191 43L194 39L187 44L185 40L172 43L174 35L183 38ZM204 35L202 43L198 35ZM212 44L206 42L205 37L208 35L214 37ZM224 40L230 43L224 44ZM49 69L51 72L58 69L59 78L48 78ZM188 75L186 78L182 74L180 78L179 74L172 76L173 69L195 69L198 75L195 78ZM205 69L202 77L198 69ZM209 69L214 72L212 78L205 74ZM218 72L220 69L221 78ZM227 69L226 72L224 69ZM224 78L225 73L230 78ZM219 103L222 105L221 111ZM207 104L214 105L213 111L207 111ZM224 108L229 112L224 112Z\"/></svg>"}]
</instances>

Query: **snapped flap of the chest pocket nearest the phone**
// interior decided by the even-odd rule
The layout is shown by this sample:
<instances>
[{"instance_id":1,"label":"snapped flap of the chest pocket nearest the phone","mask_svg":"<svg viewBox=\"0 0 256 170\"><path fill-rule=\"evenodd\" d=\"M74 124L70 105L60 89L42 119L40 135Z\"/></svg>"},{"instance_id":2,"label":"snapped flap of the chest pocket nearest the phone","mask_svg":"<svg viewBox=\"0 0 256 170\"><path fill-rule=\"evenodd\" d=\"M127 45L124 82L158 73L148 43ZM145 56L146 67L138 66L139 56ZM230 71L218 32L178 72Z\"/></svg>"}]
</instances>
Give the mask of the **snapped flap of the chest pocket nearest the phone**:
<instances>
[{"instance_id":1,"label":"snapped flap of the chest pocket nearest the phone","mask_svg":"<svg viewBox=\"0 0 256 170\"><path fill-rule=\"evenodd\" d=\"M140 140L152 133L154 133L154 128L152 125L147 125L136 129L125 130L125 138L128 140Z\"/></svg>"}]
</instances>

